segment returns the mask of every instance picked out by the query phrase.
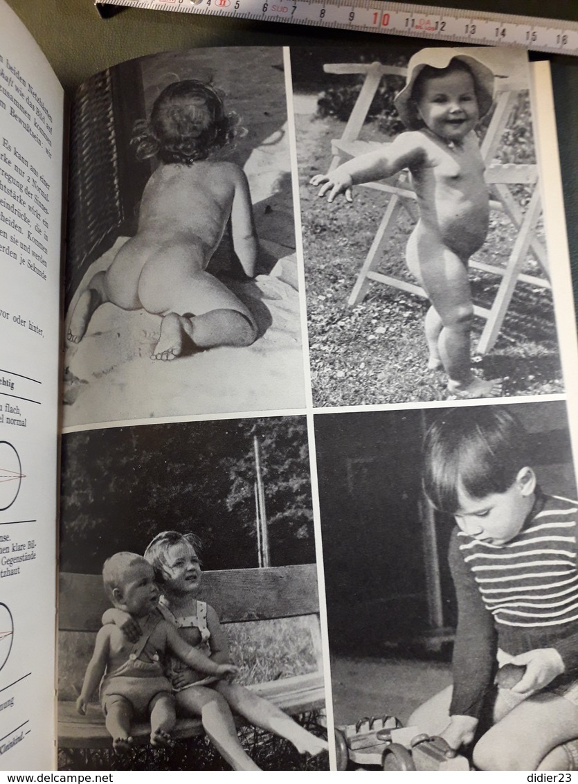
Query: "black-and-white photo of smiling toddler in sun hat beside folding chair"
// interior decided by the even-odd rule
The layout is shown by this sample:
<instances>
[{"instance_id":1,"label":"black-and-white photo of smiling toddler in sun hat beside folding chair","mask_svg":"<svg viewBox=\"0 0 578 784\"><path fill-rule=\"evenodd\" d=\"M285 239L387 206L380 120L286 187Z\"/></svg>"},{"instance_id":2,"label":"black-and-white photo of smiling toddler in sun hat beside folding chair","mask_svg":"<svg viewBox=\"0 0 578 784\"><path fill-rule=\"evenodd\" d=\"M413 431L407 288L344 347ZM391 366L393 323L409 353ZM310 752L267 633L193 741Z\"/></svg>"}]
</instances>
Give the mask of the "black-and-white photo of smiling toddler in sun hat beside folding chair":
<instances>
[{"instance_id":1,"label":"black-and-white photo of smiling toddler in sun hat beside folding chair","mask_svg":"<svg viewBox=\"0 0 578 784\"><path fill-rule=\"evenodd\" d=\"M563 390L521 49L291 49L313 405Z\"/></svg>"}]
</instances>

